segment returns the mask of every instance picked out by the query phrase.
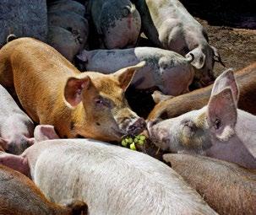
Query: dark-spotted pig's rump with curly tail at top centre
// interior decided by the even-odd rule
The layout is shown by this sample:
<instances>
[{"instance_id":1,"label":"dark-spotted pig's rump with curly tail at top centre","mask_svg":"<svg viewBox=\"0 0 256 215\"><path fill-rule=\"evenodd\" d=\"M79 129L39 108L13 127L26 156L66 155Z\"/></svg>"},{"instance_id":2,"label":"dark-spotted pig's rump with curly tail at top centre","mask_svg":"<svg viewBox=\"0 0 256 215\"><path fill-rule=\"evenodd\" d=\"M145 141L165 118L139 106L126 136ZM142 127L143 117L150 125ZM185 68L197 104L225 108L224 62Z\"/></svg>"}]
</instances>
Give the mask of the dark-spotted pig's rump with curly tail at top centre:
<instances>
[{"instance_id":1,"label":"dark-spotted pig's rump with curly tail at top centre","mask_svg":"<svg viewBox=\"0 0 256 215\"><path fill-rule=\"evenodd\" d=\"M136 45L141 20L139 12L129 0L90 0L88 10L102 48L117 49Z\"/></svg>"}]
</instances>

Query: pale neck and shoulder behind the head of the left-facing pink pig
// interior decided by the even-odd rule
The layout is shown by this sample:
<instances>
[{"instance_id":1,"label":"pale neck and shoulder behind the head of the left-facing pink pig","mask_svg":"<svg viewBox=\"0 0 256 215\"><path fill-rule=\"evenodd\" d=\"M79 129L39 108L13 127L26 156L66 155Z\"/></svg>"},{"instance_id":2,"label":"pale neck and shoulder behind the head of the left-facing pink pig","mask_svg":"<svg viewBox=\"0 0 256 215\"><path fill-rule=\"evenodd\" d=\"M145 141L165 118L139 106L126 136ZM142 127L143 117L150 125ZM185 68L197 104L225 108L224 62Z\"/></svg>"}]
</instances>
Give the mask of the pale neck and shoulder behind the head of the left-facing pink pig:
<instances>
[{"instance_id":1,"label":"pale neck and shoulder behind the head of the left-facing pink pig","mask_svg":"<svg viewBox=\"0 0 256 215\"><path fill-rule=\"evenodd\" d=\"M237 110L236 133L228 142L215 141L207 155L215 159L224 159L245 166L256 168L256 116ZM254 148L253 148L254 146Z\"/></svg>"}]
</instances>

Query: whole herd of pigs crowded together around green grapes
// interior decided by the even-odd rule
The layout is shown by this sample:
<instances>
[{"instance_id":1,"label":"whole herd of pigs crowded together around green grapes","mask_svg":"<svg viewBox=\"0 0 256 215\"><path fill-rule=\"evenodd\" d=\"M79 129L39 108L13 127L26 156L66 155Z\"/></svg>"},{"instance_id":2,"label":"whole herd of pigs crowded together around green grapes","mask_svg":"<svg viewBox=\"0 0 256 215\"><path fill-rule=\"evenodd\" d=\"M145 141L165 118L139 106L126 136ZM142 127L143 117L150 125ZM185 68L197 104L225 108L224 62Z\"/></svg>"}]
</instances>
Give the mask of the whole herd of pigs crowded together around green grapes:
<instances>
[{"instance_id":1,"label":"whole herd of pigs crowded together around green grapes","mask_svg":"<svg viewBox=\"0 0 256 215\"><path fill-rule=\"evenodd\" d=\"M141 32L156 47L135 47ZM215 78L221 56L182 3L58 0L51 46L11 33L0 214L256 214L256 62ZM125 92L152 87L144 119ZM140 133L161 161L113 144Z\"/></svg>"}]
</instances>

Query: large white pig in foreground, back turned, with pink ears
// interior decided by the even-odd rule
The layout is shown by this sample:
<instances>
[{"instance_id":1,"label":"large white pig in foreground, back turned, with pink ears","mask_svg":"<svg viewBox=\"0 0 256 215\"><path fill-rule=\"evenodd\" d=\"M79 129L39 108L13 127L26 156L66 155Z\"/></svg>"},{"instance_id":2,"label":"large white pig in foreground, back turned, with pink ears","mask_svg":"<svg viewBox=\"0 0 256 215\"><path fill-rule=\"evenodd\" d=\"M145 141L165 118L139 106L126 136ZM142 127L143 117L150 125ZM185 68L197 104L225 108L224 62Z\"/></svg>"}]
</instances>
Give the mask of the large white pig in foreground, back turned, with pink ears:
<instances>
[{"instance_id":1,"label":"large white pig in foreground, back turned, with pink ears","mask_svg":"<svg viewBox=\"0 0 256 215\"><path fill-rule=\"evenodd\" d=\"M56 137L53 126L37 126L32 147L0 162L28 169L23 173L52 202L86 200L90 214L216 214L161 161L106 142Z\"/></svg>"}]
</instances>

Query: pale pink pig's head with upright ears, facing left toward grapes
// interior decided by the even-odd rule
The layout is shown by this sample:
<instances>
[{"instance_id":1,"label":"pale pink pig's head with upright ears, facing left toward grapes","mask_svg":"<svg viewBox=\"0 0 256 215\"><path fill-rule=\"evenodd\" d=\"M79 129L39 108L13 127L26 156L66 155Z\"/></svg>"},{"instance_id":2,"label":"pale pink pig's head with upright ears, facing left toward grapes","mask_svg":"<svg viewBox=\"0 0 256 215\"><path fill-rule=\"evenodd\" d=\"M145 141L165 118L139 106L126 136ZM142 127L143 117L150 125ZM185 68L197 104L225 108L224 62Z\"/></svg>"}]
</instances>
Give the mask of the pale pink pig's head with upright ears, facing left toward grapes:
<instances>
[{"instance_id":1,"label":"pale pink pig's head with upright ears, facing left toward grapes","mask_svg":"<svg viewBox=\"0 0 256 215\"><path fill-rule=\"evenodd\" d=\"M231 70L215 80L207 106L182 116L148 123L150 139L172 153L201 153L235 133L238 89Z\"/></svg>"}]
</instances>

